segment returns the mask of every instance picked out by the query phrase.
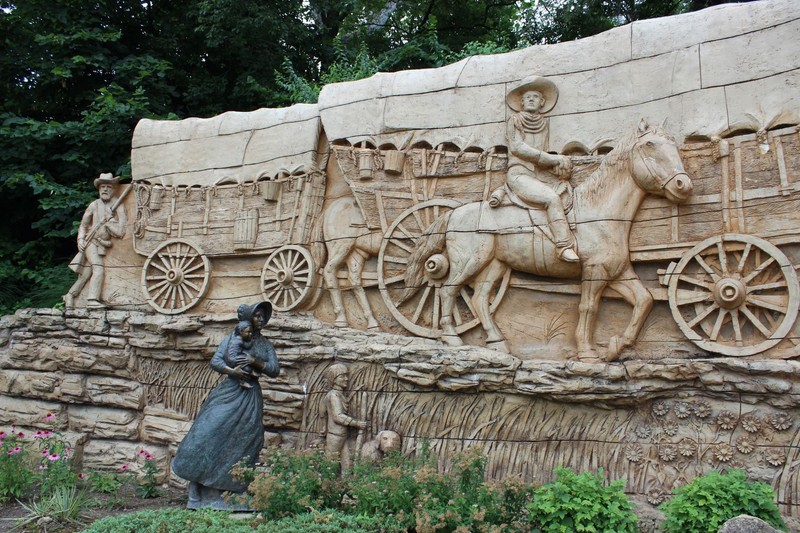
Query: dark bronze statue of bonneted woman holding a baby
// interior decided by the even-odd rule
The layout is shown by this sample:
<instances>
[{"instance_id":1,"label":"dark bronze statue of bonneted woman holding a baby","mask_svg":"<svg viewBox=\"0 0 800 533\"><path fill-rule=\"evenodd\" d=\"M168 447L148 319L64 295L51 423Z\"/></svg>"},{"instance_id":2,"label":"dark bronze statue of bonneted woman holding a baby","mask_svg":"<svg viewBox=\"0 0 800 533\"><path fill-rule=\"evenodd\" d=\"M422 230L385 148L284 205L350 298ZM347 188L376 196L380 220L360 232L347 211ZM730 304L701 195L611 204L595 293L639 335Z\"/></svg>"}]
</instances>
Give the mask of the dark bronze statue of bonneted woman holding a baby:
<instances>
[{"instance_id":1,"label":"dark bronze statue of bonneted woman holding a baby","mask_svg":"<svg viewBox=\"0 0 800 533\"><path fill-rule=\"evenodd\" d=\"M261 328L272 315L272 305L241 305L237 314L247 325L237 326L238 334L228 335L211 359L211 367L228 377L203 402L172 462L173 472L189 481L190 509L228 508L222 493L244 492L247 488L231 477L231 468L242 460L255 463L264 446L264 400L257 376L263 372L274 378L280 373L275 349L261 335ZM251 347L242 350L238 335L247 331L248 325L252 328ZM237 343L236 366L230 366L228 352L231 344Z\"/></svg>"}]
</instances>

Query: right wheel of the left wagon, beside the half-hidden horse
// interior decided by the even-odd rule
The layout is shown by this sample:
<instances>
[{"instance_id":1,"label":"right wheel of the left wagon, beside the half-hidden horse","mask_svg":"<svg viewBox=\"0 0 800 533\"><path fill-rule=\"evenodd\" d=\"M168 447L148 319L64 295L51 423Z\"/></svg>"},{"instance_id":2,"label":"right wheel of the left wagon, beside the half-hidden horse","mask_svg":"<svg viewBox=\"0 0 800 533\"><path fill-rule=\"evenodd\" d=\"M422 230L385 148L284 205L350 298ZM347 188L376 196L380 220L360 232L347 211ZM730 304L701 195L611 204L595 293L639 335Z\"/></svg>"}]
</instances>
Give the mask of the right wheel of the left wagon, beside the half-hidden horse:
<instances>
[{"instance_id":1,"label":"right wheel of the left wagon, beside the half-hidden horse","mask_svg":"<svg viewBox=\"0 0 800 533\"><path fill-rule=\"evenodd\" d=\"M302 246L282 246L272 252L261 271L261 293L277 311L305 304L316 286L311 253Z\"/></svg>"}]
</instances>

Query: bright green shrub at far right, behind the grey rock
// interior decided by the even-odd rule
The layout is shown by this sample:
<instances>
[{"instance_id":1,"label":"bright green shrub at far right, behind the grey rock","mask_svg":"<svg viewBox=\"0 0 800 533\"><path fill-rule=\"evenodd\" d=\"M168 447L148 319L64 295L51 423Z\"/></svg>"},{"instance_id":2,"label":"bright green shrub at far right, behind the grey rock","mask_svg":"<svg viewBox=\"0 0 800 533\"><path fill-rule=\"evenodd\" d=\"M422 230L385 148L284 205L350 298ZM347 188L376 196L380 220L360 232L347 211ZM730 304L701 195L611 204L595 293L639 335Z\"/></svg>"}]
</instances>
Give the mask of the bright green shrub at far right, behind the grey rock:
<instances>
[{"instance_id":1,"label":"bright green shrub at far right, behind the grey rock","mask_svg":"<svg viewBox=\"0 0 800 533\"><path fill-rule=\"evenodd\" d=\"M680 533L716 533L727 520L748 514L786 531L775 494L765 483L747 481L741 470L711 472L675 490L675 497L661 504L667 516L664 528Z\"/></svg>"}]
</instances>

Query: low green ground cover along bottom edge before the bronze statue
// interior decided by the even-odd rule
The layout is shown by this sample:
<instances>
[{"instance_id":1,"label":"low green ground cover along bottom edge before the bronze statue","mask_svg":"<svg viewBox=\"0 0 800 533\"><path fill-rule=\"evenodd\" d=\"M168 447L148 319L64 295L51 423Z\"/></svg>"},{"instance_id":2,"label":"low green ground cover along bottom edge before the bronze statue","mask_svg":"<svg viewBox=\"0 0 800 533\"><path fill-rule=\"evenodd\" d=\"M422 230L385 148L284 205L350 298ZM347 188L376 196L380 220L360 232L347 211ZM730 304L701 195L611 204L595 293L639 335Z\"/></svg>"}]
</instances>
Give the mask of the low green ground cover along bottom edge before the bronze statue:
<instances>
[{"instance_id":1,"label":"low green ground cover along bottom edge before the bronze statue","mask_svg":"<svg viewBox=\"0 0 800 533\"><path fill-rule=\"evenodd\" d=\"M400 533L405 528L384 517L350 516L341 512L304 513L272 522L231 518L219 511L161 509L109 516L84 533Z\"/></svg>"}]
</instances>

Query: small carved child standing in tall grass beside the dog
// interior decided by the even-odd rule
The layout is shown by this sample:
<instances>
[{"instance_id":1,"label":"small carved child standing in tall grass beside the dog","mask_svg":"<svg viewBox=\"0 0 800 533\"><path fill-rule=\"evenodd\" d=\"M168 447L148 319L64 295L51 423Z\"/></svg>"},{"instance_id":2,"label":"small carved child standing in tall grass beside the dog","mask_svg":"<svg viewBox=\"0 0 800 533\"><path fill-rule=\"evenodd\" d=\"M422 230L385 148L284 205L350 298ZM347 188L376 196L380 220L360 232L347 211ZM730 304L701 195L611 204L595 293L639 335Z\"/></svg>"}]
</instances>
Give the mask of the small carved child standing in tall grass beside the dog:
<instances>
[{"instance_id":1,"label":"small carved child standing in tall grass beside the dog","mask_svg":"<svg viewBox=\"0 0 800 533\"><path fill-rule=\"evenodd\" d=\"M364 430L369 423L366 420L353 418L347 413L347 398L344 395L350 384L347 367L335 363L328 367L325 377L331 387L320 406L320 418L324 423L325 452L331 457L338 457L342 471L345 471L353 464L348 440L349 428Z\"/></svg>"}]
</instances>

